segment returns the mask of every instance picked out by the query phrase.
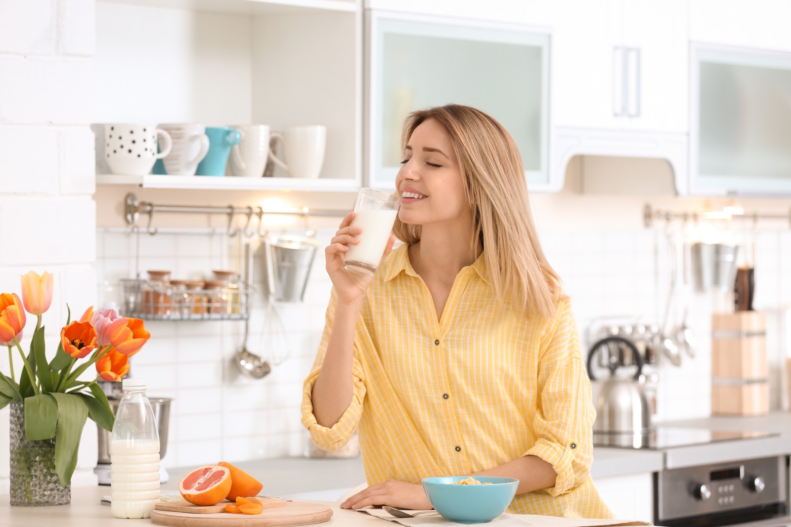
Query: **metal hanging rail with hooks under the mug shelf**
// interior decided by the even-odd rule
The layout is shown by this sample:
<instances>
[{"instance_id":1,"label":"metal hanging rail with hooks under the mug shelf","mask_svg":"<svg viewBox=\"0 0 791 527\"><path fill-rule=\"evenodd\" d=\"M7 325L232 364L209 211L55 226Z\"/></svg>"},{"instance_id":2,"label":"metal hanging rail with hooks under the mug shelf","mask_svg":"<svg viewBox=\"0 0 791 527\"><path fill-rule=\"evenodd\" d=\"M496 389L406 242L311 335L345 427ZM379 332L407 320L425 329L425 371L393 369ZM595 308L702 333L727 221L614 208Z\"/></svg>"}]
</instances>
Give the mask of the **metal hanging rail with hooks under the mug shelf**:
<instances>
[{"instance_id":1,"label":"metal hanging rail with hooks under the mug shelf","mask_svg":"<svg viewBox=\"0 0 791 527\"><path fill-rule=\"evenodd\" d=\"M148 214L148 225L146 230L149 234L156 234L157 229L151 226L153 214L155 212L178 212L187 214L225 214L228 216L228 234L235 236L240 229L233 227L233 219L238 215L243 215L247 218L247 223L244 225L246 231L250 226L250 221L253 217L258 218L259 227L263 222L265 214L286 214L290 216L301 216L305 219L305 228L308 229L309 216L324 216L324 217L339 217L343 218L349 214L348 210L327 210L327 209L308 209L303 207L301 209L288 209L288 210L263 210L263 207L196 207L193 205L156 205L149 201L140 201L133 193L127 194L125 216L127 224L137 226L140 214ZM313 229L315 231L315 228Z\"/></svg>"}]
</instances>

